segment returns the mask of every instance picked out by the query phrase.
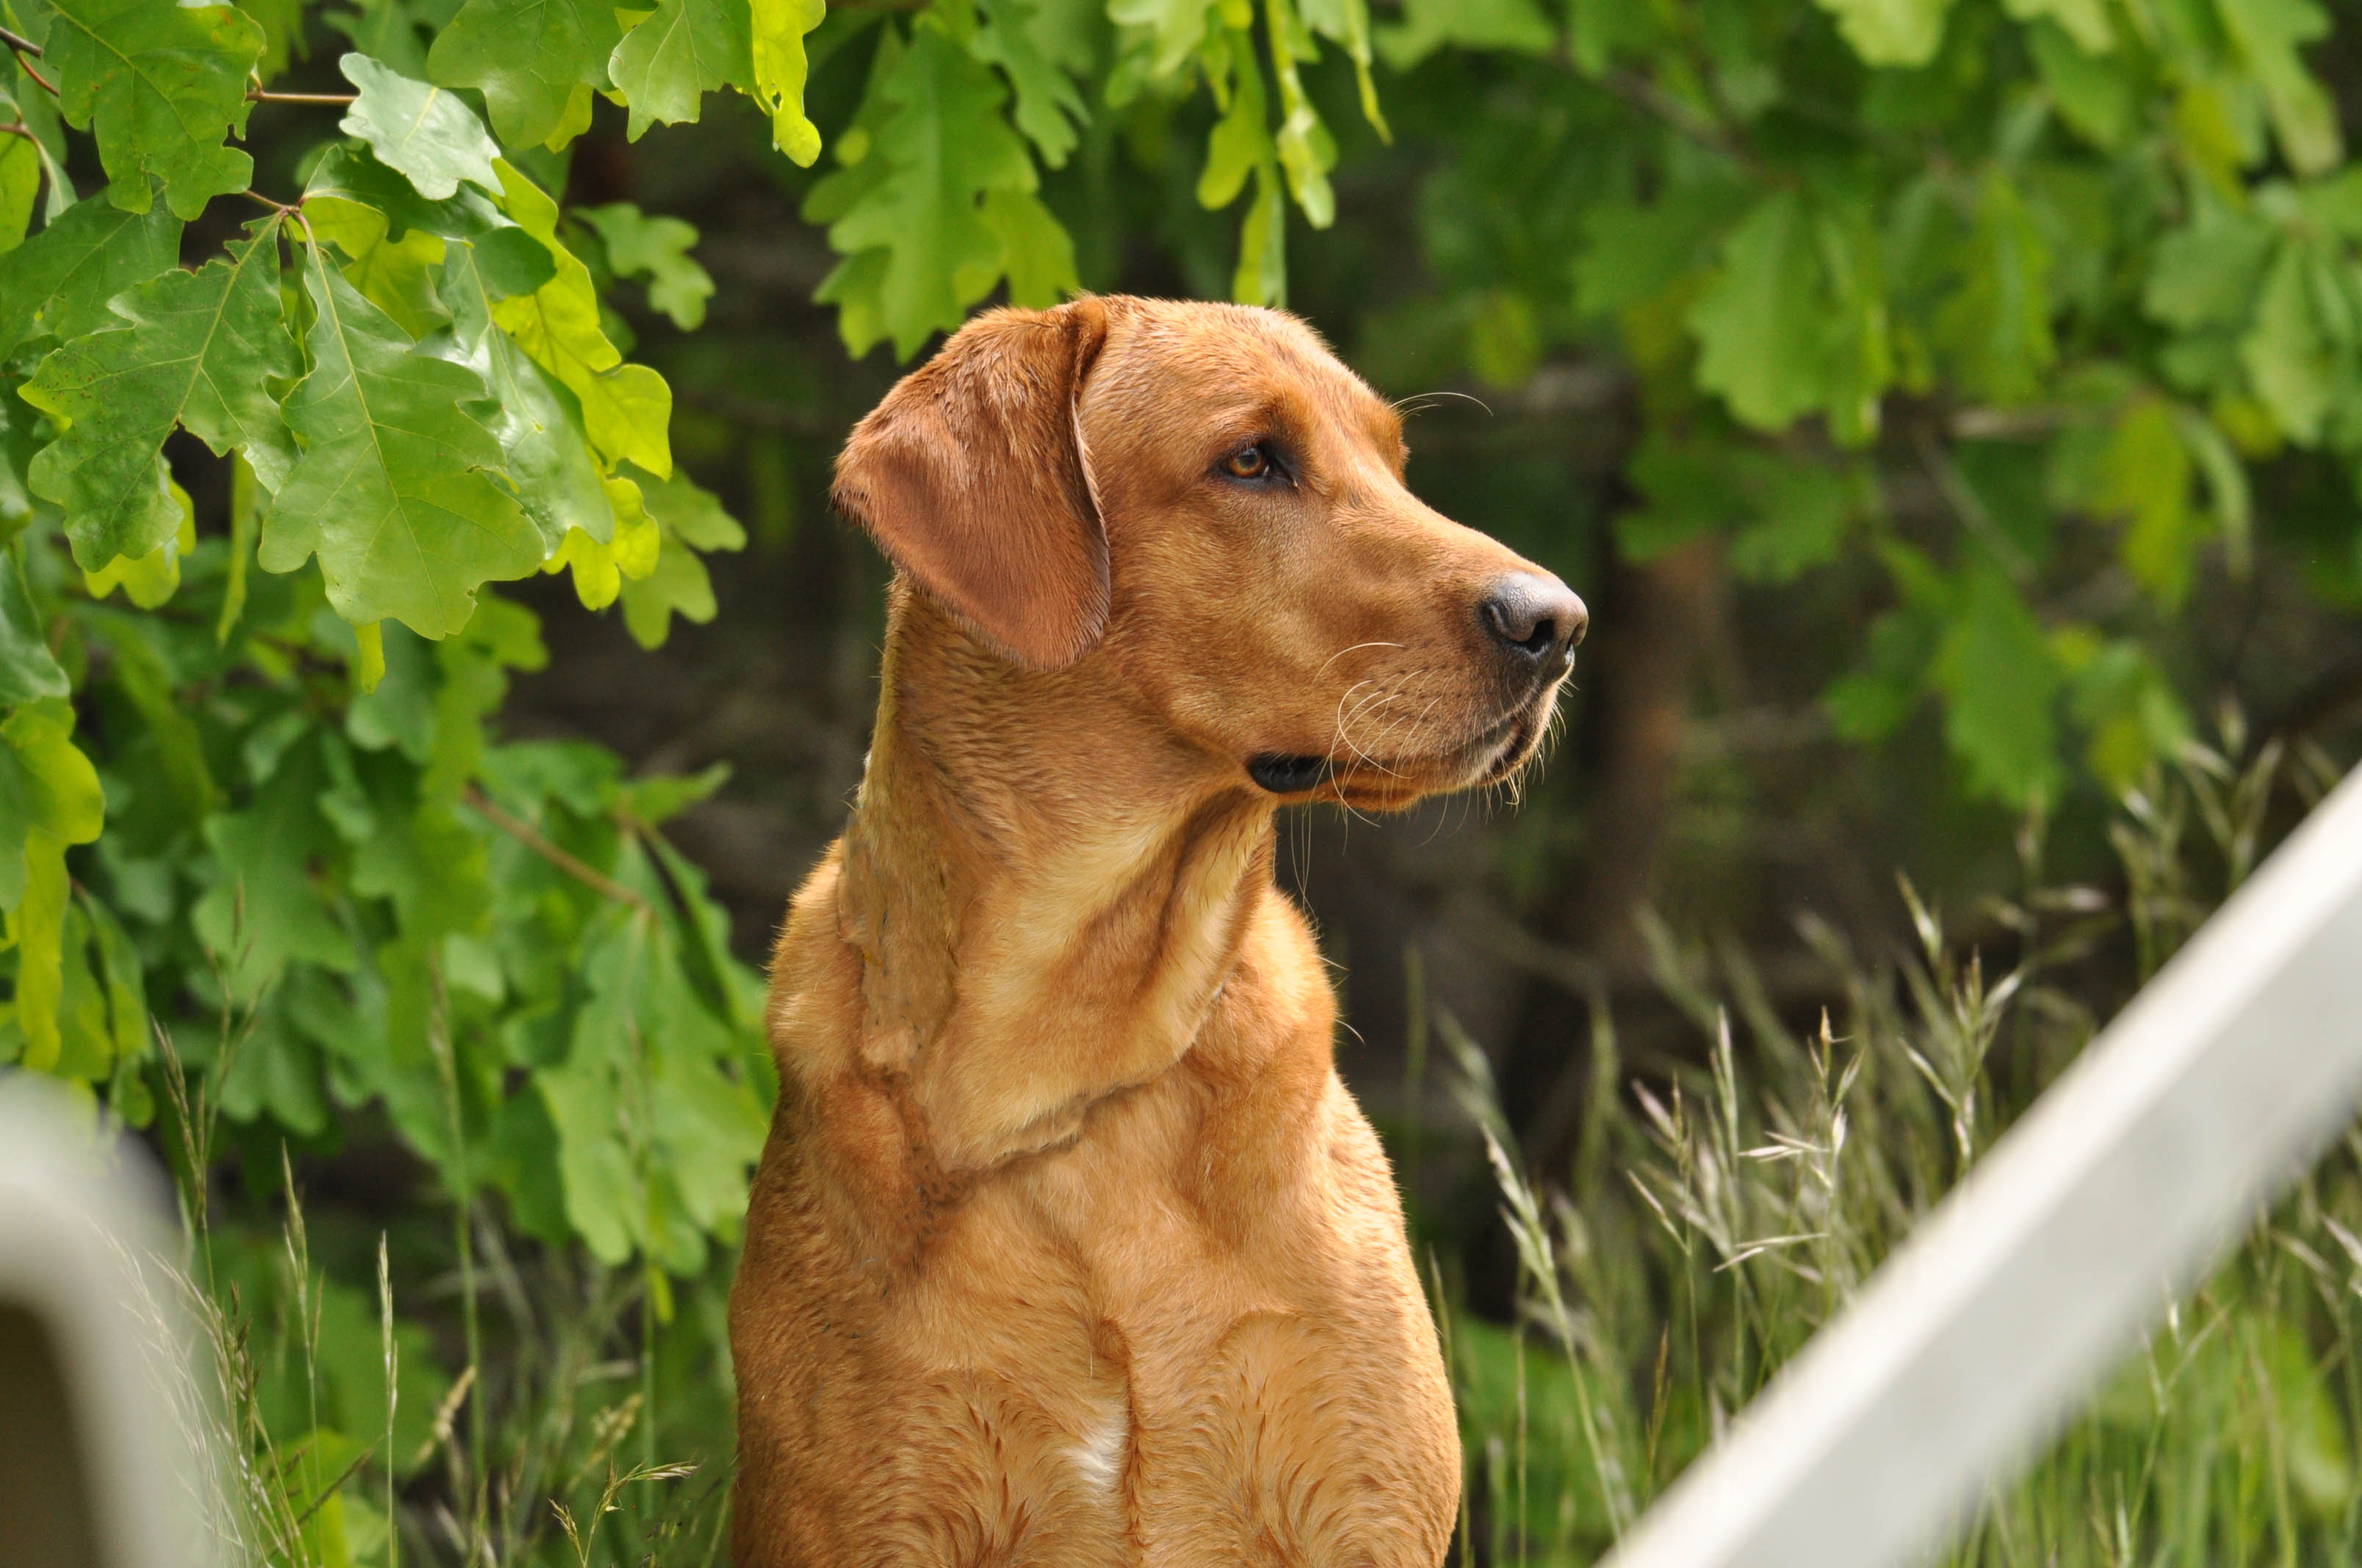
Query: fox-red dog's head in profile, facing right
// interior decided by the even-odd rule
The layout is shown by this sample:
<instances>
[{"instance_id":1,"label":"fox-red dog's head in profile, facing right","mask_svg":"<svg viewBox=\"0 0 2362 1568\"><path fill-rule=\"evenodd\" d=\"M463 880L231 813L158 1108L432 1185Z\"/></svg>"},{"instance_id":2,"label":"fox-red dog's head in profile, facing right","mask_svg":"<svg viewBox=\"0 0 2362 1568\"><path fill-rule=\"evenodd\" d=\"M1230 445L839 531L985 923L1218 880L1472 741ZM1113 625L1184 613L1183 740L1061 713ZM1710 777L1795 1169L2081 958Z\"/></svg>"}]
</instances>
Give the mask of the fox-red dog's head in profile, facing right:
<instances>
[{"instance_id":1,"label":"fox-red dog's head in profile, facing right","mask_svg":"<svg viewBox=\"0 0 2362 1568\"><path fill-rule=\"evenodd\" d=\"M1294 316L1084 298L961 328L855 427L836 505L1011 664L1096 664L1275 796L1398 808L1523 765L1585 628L1403 458Z\"/></svg>"}]
</instances>

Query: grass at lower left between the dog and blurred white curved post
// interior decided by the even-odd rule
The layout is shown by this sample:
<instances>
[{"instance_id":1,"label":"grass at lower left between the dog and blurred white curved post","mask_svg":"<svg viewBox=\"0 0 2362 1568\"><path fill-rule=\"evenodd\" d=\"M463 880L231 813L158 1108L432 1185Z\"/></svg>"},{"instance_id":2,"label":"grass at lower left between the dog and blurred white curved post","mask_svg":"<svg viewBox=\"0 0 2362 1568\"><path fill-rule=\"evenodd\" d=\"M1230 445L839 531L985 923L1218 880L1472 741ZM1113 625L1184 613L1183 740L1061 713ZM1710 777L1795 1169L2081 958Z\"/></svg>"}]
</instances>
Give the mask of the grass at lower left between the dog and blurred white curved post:
<instances>
[{"instance_id":1,"label":"grass at lower left between the dog and blurred white curved post","mask_svg":"<svg viewBox=\"0 0 2362 1568\"><path fill-rule=\"evenodd\" d=\"M170 1405L222 1483L205 1500L205 1561L727 1561L727 1259L659 1304L645 1275L522 1242L465 1195L439 1254L432 1214L373 1233L333 1209L314 1219L286 1155L272 1226L253 1193L215 1202L217 1091L243 1025L224 1008L203 1070L168 1030L158 1041L187 1235L177 1282L203 1363ZM224 1223L222 1209L239 1214ZM428 1266L397 1270L397 1247ZM456 1268L432 1273L437 1256ZM659 1462L659 1448L685 1457Z\"/></svg>"}]
</instances>

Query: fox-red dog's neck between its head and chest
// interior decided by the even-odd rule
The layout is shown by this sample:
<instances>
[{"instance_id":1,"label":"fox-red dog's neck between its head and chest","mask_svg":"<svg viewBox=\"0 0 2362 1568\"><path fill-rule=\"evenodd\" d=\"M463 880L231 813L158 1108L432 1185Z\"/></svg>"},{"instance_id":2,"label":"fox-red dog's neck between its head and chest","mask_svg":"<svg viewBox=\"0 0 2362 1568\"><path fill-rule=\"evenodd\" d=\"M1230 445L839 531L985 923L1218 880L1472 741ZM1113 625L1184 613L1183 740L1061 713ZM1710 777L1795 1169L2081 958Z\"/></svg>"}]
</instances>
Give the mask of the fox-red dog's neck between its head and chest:
<instances>
[{"instance_id":1,"label":"fox-red dog's neck between its head and chest","mask_svg":"<svg viewBox=\"0 0 2362 1568\"><path fill-rule=\"evenodd\" d=\"M1271 895L1271 822L1105 675L1018 671L898 593L839 923L914 1143L987 1169L1172 1067Z\"/></svg>"}]
</instances>

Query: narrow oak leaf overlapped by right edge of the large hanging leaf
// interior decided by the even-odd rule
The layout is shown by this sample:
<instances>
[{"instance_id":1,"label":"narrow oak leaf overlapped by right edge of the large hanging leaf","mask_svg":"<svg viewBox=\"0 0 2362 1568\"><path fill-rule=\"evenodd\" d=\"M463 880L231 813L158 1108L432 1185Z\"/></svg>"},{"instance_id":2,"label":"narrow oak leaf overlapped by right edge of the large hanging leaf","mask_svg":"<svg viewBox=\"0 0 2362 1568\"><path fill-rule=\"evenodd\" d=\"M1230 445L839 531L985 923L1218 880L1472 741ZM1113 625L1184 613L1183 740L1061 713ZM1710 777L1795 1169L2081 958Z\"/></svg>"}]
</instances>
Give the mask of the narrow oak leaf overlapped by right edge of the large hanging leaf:
<instances>
[{"instance_id":1,"label":"narrow oak leaf overlapped by right edge of the large hanging leaf","mask_svg":"<svg viewBox=\"0 0 2362 1568\"><path fill-rule=\"evenodd\" d=\"M484 378L491 399L475 413L501 444L517 501L541 529L541 553L555 555L567 529L612 541L614 508L583 435L581 406L494 324L498 298L477 267L475 246L446 253L442 302L451 312L451 331L418 345L418 352Z\"/></svg>"}]
</instances>

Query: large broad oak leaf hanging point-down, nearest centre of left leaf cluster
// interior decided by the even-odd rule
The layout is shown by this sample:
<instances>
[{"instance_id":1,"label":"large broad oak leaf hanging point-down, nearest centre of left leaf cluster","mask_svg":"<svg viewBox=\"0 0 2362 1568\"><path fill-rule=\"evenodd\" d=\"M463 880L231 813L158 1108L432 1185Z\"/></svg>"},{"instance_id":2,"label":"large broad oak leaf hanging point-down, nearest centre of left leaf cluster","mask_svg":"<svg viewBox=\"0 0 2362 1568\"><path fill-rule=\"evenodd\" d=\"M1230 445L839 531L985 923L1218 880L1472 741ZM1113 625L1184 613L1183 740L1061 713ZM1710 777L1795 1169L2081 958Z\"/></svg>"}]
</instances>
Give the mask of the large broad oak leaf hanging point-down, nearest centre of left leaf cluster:
<instances>
[{"instance_id":1,"label":"large broad oak leaf hanging point-down, nearest centre of left leaf cluster","mask_svg":"<svg viewBox=\"0 0 2362 1568\"><path fill-rule=\"evenodd\" d=\"M461 404L489 392L409 335L309 250L312 373L286 404L302 458L262 517L257 560L293 571L319 555L328 602L352 623L394 619L444 638L477 586L541 564L541 534L491 475L501 446Z\"/></svg>"}]
</instances>

